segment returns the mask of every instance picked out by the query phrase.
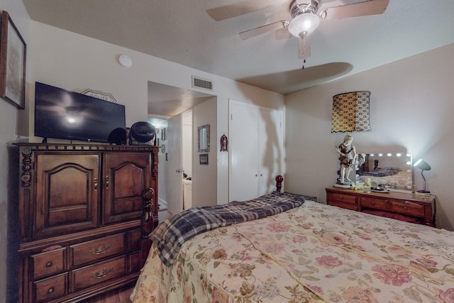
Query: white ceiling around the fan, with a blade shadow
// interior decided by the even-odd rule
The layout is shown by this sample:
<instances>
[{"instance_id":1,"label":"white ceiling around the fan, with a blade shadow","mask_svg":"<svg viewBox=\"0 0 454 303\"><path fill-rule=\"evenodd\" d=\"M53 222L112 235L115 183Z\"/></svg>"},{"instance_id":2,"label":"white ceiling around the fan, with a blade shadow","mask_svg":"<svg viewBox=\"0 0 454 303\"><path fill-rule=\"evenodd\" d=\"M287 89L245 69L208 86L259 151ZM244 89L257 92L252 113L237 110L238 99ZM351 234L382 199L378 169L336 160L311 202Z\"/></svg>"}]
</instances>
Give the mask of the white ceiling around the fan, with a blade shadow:
<instances>
[{"instance_id":1,"label":"white ceiling around the fan, with a blade shadow","mask_svg":"<svg viewBox=\"0 0 454 303\"><path fill-rule=\"evenodd\" d=\"M264 0L265 1L265 0ZM289 0L215 21L238 0L23 0L32 20L282 94L454 43L454 0L390 0L381 15L321 21L311 56L297 38L241 31L289 20ZM321 9L358 0L321 0Z\"/></svg>"}]
</instances>

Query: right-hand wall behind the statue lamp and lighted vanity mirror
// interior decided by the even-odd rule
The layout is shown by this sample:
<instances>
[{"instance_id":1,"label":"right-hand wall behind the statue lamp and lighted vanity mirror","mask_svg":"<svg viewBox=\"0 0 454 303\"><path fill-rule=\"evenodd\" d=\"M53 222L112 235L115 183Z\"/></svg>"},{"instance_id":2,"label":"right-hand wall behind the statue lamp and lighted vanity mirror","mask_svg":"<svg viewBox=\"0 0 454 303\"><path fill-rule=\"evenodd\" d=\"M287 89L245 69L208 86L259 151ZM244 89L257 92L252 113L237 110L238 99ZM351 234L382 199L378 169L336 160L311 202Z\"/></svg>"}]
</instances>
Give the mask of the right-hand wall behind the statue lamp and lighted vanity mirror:
<instances>
[{"instance_id":1,"label":"right-hand wall behind the statue lamp and lighted vanity mirror","mask_svg":"<svg viewBox=\"0 0 454 303\"><path fill-rule=\"evenodd\" d=\"M336 182L335 146L345 133L331 133L335 94L372 92L371 132L352 133L357 151L409 151L432 170L424 172L436 195L437 226L454 230L454 44L361 72L286 97L287 173L284 188L326 201L324 188ZM423 188L421 171L414 171Z\"/></svg>"}]
</instances>

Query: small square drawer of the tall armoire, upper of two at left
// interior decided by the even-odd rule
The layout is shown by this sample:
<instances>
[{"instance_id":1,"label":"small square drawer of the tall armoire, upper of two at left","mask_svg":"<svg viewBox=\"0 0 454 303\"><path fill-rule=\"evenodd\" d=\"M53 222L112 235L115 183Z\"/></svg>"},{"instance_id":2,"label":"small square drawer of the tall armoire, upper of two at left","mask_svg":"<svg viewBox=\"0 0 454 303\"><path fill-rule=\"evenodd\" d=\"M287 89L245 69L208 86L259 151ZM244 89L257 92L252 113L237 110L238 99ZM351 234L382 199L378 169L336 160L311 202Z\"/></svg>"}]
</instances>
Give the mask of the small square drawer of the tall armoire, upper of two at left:
<instances>
[{"instance_id":1,"label":"small square drawer of the tall armoire, upper of two at left","mask_svg":"<svg viewBox=\"0 0 454 303\"><path fill-rule=\"evenodd\" d=\"M31 260L34 279L55 275L65 270L65 248L57 248L45 253L32 255Z\"/></svg>"}]
</instances>

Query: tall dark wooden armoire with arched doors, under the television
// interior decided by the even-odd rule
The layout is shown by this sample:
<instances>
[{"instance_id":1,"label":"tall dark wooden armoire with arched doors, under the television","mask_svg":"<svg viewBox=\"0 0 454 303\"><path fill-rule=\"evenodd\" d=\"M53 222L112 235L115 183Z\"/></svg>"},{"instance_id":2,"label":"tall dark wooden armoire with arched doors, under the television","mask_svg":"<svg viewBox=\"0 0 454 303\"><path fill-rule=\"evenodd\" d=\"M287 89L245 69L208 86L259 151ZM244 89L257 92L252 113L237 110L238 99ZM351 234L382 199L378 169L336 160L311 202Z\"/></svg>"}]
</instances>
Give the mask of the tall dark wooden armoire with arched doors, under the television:
<instances>
[{"instance_id":1,"label":"tall dark wooden armoire with arched doors, under the television","mask_svg":"<svg viewBox=\"0 0 454 303\"><path fill-rule=\"evenodd\" d=\"M19 302L79 302L134 282L144 192L157 225L157 146L13 145Z\"/></svg>"}]
</instances>

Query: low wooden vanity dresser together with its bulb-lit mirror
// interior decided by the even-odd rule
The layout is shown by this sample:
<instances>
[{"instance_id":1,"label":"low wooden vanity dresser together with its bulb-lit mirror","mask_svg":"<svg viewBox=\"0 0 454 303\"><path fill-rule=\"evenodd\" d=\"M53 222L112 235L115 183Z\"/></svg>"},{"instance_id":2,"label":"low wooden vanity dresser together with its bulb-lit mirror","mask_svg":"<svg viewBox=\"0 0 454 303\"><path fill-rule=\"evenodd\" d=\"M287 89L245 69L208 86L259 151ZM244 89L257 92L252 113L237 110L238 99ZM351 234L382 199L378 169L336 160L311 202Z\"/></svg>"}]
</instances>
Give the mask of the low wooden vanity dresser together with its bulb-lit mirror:
<instances>
[{"instance_id":1,"label":"low wooden vanity dresser together with its bulb-lit mirror","mask_svg":"<svg viewBox=\"0 0 454 303\"><path fill-rule=\"evenodd\" d=\"M326 188L326 203L375 216L436 226L435 197L412 192L410 153L358 153L357 184L364 189ZM384 190L375 191L376 187Z\"/></svg>"}]
</instances>

